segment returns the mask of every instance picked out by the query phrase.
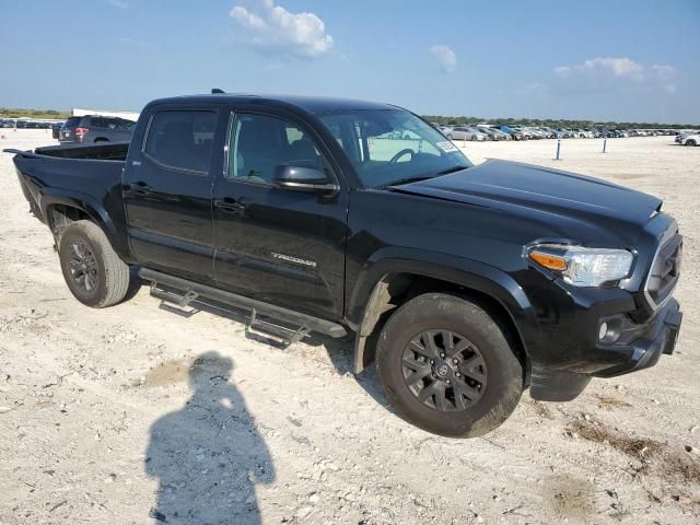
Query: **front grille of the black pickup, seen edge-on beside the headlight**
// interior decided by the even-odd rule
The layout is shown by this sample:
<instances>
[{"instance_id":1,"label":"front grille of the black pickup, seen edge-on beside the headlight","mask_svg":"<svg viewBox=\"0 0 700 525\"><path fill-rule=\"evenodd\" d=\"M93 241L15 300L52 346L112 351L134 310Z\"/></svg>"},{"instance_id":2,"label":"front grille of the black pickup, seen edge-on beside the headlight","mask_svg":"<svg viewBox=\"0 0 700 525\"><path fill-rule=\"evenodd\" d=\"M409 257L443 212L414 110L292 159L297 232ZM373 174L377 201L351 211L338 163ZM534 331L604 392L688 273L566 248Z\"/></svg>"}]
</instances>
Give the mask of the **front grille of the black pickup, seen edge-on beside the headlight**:
<instances>
[{"instance_id":1,"label":"front grille of the black pickup, seen edge-on beside the headlight","mask_svg":"<svg viewBox=\"0 0 700 525\"><path fill-rule=\"evenodd\" d=\"M680 275L681 257L682 236L674 224L664 235L646 278L644 292L652 306L661 306L673 293Z\"/></svg>"}]
</instances>

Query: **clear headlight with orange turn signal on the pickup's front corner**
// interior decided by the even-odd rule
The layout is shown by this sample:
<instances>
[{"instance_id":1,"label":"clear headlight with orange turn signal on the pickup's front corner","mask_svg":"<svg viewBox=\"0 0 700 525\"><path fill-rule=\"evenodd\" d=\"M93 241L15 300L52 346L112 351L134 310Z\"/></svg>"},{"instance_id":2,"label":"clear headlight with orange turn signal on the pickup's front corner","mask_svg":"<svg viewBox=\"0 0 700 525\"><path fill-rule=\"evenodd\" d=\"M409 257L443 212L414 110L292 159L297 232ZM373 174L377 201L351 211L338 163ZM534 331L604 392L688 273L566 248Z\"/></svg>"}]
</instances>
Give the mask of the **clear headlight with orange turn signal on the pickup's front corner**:
<instances>
[{"instance_id":1,"label":"clear headlight with orange turn signal on the pickup's front corner","mask_svg":"<svg viewBox=\"0 0 700 525\"><path fill-rule=\"evenodd\" d=\"M528 250L528 256L539 266L561 275L574 287L599 287L627 277L633 255L627 249L585 248L540 244Z\"/></svg>"}]
</instances>

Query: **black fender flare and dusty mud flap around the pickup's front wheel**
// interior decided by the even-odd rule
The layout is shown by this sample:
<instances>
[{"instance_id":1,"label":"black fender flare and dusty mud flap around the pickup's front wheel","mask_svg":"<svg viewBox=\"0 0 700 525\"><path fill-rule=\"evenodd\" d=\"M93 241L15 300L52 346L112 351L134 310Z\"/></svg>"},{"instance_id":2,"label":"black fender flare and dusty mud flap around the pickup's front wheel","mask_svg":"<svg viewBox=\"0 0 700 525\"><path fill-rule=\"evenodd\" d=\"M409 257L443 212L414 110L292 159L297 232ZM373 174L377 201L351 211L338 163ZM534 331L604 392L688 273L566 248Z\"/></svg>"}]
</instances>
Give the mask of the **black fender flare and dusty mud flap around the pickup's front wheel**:
<instances>
[{"instance_id":1,"label":"black fender flare and dusty mud flap around the pickup's front wheel","mask_svg":"<svg viewBox=\"0 0 700 525\"><path fill-rule=\"evenodd\" d=\"M474 259L415 248L388 247L364 265L348 305L348 325L355 329L353 372L364 369L364 349L378 316L377 302L387 293L387 277L411 273L477 291L495 300L511 318L525 352L539 340L537 318L522 287L506 272Z\"/></svg>"}]
</instances>

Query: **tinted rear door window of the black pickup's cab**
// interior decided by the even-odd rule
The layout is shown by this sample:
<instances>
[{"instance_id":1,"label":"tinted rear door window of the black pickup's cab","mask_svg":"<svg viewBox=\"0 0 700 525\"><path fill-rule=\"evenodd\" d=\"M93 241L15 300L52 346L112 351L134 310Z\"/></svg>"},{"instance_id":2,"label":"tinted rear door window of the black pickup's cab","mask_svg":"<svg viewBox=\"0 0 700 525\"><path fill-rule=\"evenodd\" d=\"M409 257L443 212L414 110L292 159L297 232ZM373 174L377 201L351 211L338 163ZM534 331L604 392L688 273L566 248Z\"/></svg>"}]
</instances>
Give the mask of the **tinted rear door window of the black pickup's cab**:
<instances>
[{"instance_id":1,"label":"tinted rear door window of the black pickup's cab","mask_svg":"<svg viewBox=\"0 0 700 525\"><path fill-rule=\"evenodd\" d=\"M151 118L143 152L176 170L209 172L215 112L159 112Z\"/></svg>"}]
</instances>

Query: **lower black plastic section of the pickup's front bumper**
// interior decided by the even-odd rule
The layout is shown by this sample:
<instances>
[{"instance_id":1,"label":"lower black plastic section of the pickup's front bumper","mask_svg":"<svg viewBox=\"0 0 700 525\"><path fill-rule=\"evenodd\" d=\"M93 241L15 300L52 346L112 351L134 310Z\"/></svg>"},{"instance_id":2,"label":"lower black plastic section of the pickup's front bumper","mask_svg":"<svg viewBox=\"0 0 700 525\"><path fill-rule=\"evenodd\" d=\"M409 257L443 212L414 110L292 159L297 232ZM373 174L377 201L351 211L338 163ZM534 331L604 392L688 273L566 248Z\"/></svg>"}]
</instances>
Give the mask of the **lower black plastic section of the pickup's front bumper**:
<instances>
[{"instance_id":1,"label":"lower black plastic section of the pickup's front bumper","mask_svg":"<svg viewBox=\"0 0 700 525\"><path fill-rule=\"evenodd\" d=\"M622 342L597 342L590 348L591 355L607 363L591 373L533 363L530 396L544 401L569 401L583 392L592 377L615 377L654 366L662 354L674 352L681 320L682 313L675 299L645 323L626 319L618 338Z\"/></svg>"}]
</instances>

